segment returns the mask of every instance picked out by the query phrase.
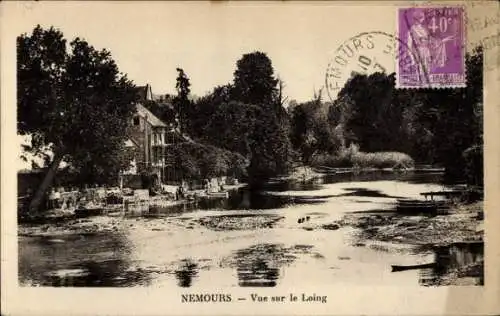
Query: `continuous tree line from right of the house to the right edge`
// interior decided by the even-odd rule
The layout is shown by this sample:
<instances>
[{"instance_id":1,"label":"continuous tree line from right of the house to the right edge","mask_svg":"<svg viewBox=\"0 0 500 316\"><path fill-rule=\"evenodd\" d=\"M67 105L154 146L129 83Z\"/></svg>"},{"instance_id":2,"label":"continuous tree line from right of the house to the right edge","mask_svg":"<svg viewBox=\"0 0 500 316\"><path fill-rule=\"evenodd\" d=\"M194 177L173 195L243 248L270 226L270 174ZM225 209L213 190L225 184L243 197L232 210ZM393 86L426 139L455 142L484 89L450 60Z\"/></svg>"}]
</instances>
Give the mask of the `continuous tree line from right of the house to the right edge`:
<instances>
[{"instance_id":1,"label":"continuous tree line from right of the house to the right edge","mask_svg":"<svg viewBox=\"0 0 500 316\"><path fill-rule=\"evenodd\" d=\"M408 167L409 157L445 167L448 181L481 184L482 61L481 48L466 56L466 88L396 89L395 74L355 74L333 102L323 100L320 90L286 108L271 60L253 52L237 62L232 83L197 101L178 90L175 110L164 110L163 118L182 112L191 137L245 157L255 184L297 162L369 166L373 158L373 167ZM182 70L177 80L177 87L189 86ZM358 151L381 154L352 158ZM387 161L381 161L383 152Z\"/></svg>"}]
</instances>

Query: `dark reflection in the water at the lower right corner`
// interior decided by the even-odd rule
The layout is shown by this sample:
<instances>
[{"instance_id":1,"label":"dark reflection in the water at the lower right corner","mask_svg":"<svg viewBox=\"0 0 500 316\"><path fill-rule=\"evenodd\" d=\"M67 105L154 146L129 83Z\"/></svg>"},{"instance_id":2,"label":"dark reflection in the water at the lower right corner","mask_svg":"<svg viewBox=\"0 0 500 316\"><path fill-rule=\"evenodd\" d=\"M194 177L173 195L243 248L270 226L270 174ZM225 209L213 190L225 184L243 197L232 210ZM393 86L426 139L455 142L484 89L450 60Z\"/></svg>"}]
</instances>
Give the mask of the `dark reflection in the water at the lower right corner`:
<instances>
[{"instance_id":1,"label":"dark reflection in the water at the lower right corner","mask_svg":"<svg viewBox=\"0 0 500 316\"><path fill-rule=\"evenodd\" d=\"M456 276L474 278L484 285L484 243L453 243L434 247L435 266L420 272L420 284L436 285L443 277L455 271Z\"/></svg>"}]
</instances>

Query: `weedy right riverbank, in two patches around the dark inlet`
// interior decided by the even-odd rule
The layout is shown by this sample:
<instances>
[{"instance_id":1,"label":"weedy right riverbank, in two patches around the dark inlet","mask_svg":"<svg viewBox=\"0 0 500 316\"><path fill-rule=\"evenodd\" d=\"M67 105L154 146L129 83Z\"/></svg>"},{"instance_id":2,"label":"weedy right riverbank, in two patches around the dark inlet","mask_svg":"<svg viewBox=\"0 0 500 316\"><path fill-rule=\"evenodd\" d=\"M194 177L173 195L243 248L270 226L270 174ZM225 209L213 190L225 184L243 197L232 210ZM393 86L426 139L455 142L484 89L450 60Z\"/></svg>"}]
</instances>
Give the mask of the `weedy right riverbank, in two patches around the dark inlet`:
<instances>
[{"instance_id":1,"label":"weedy right riverbank, in two patches around the dark inlet","mask_svg":"<svg viewBox=\"0 0 500 316\"><path fill-rule=\"evenodd\" d=\"M456 204L448 215L399 216L394 214L347 214L333 225L357 228L354 243L381 241L422 247L481 243L484 237L483 202ZM478 285L484 277L484 260L450 269L428 285Z\"/></svg>"}]
</instances>

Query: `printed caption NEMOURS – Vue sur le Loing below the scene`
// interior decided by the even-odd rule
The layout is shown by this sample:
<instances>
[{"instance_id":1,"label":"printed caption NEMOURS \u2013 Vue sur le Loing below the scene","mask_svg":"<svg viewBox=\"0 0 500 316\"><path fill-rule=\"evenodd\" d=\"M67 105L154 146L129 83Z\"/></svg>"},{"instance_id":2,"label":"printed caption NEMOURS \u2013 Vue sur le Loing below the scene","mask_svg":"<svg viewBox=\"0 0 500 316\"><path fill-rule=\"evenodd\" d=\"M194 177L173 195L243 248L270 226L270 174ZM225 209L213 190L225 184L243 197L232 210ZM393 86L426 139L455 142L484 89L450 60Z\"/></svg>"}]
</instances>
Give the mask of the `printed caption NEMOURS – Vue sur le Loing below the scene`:
<instances>
[{"instance_id":1,"label":"printed caption NEMOURS \u2013 Vue sur le Loing below the scene","mask_svg":"<svg viewBox=\"0 0 500 316\"><path fill-rule=\"evenodd\" d=\"M230 303L238 301L251 301L256 303L285 303L285 302L305 302L305 303L326 303L326 295L318 295L316 293L307 294L300 293L294 294L290 293L288 295L259 295L257 293L251 293L249 297L235 297L227 293L197 293L197 294L182 294L182 303Z\"/></svg>"}]
</instances>

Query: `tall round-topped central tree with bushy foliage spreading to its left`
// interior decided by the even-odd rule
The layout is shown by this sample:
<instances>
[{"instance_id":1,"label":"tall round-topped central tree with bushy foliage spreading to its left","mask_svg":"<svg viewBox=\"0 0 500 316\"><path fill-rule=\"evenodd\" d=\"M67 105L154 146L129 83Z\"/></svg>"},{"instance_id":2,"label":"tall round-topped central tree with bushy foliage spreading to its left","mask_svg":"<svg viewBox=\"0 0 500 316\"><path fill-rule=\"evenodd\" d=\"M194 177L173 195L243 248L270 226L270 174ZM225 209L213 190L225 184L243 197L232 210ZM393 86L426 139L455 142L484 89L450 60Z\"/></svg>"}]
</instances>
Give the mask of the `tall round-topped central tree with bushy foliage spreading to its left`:
<instances>
[{"instance_id":1,"label":"tall round-topped central tree with bushy foliage spreading to its left","mask_svg":"<svg viewBox=\"0 0 500 316\"><path fill-rule=\"evenodd\" d=\"M249 161L248 180L255 185L289 168L290 122L278 83L266 54L245 54L234 82L201 97L189 114L189 134L243 155Z\"/></svg>"}]
</instances>

